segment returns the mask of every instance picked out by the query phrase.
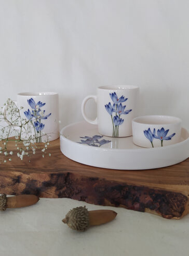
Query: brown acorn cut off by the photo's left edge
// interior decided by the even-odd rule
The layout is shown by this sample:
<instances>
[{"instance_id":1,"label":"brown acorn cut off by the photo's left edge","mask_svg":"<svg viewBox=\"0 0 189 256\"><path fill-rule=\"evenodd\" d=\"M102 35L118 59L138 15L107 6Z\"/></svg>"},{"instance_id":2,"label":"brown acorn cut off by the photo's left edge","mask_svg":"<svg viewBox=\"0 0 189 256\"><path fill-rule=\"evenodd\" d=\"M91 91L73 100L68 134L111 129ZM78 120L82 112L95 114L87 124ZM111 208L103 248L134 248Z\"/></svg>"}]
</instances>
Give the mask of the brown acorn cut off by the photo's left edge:
<instances>
[{"instance_id":1,"label":"brown acorn cut off by the photo's left edge","mask_svg":"<svg viewBox=\"0 0 189 256\"><path fill-rule=\"evenodd\" d=\"M20 195L7 197L5 194L0 196L0 211L5 211L7 208L19 208L32 206L38 202L39 198L35 195Z\"/></svg>"}]
</instances>

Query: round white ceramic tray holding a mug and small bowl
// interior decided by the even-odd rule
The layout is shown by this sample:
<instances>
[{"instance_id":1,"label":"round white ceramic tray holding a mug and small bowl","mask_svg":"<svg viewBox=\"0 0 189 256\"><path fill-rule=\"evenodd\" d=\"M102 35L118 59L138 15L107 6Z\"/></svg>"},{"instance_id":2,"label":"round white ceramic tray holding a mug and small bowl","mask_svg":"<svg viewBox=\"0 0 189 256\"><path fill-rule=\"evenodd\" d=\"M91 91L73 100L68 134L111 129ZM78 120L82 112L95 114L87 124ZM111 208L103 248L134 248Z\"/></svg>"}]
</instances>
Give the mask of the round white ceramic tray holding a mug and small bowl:
<instances>
[{"instance_id":1,"label":"round white ceramic tray holding a mug and small bowl","mask_svg":"<svg viewBox=\"0 0 189 256\"><path fill-rule=\"evenodd\" d=\"M95 135L100 135L97 125L86 121L70 124L61 131L60 149L66 157L76 162L119 170L161 168L182 162L189 157L189 133L184 128L182 128L181 142L159 148L142 148L134 145L132 136L124 138L103 136L95 137L93 140L81 138ZM103 144L102 140L106 144ZM84 142L89 145L83 144Z\"/></svg>"}]
</instances>

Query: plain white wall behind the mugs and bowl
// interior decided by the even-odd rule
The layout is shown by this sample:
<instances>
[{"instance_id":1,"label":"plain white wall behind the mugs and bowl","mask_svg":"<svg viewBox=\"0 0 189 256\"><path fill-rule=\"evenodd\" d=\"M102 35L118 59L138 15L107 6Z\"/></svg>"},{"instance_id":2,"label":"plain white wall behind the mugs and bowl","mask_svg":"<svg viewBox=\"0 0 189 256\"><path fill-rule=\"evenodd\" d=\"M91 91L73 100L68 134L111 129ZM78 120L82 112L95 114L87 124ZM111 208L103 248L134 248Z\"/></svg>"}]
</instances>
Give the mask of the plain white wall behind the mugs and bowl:
<instances>
[{"instance_id":1,"label":"plain white wall behind the mugs and bowl","mask_svg":"<svg viewBox=\"0 0 189 256\"><path fill-rule=\"evenodd\" d=\"M56 91L63 126L83 119L97 86L133 84L139 114L189 128L188 10L188 0L0 0L0 104Z\"/></svg>"}]
</instances>

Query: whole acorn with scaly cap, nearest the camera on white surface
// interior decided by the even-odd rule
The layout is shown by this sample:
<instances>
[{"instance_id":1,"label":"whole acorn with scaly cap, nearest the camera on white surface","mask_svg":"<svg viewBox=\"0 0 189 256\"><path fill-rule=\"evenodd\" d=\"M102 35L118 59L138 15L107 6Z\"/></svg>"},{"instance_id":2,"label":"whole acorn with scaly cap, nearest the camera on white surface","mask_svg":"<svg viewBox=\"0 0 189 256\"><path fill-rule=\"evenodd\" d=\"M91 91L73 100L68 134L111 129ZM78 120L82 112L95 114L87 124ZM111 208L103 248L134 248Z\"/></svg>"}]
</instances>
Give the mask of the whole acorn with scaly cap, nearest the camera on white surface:
<instances>
[{"instance_id":1,"label":"whole acorn with scaly cap, nearest the camera on white surface","mask_svg":"<svg viewBox=\"0 0 189 256\"><path fill-rule=\"evenodd\" d=\"M84 206L70 210L63 223L76 231L86 231L89 226L105 224L115 219L117 213L112 210L88 211Z\"/></svg>"}]
</instances>

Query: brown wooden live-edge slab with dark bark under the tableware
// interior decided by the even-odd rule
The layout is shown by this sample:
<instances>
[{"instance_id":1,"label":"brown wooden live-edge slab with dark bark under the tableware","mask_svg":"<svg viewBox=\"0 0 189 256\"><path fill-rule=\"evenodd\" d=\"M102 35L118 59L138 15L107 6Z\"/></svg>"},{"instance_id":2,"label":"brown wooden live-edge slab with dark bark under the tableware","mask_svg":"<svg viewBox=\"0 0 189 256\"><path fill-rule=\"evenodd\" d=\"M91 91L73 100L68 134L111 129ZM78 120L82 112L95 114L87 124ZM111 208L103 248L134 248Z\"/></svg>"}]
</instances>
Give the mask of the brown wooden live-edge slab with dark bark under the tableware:
<instances>
[{"instance_id":1,"label":"brown wooden live-edge slab with dark bark under the tableware","mask_svg":"<svg viewBox=\"0 0 189 256\"><path fill-rule=\"evenodd\" d=\"M9 150L15 151L13 145ZM15 152L11 162L0 164L0 193L72 198L167 219L181 219L189 212L189 159L167 168L125 171L74 162L62 155L59 139L50 143L48 152L51 157L42 158L39 148L31 162L21 161Z\"/></svg>"}]
</instances>

